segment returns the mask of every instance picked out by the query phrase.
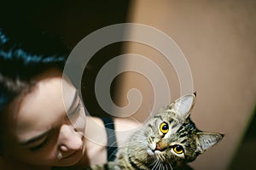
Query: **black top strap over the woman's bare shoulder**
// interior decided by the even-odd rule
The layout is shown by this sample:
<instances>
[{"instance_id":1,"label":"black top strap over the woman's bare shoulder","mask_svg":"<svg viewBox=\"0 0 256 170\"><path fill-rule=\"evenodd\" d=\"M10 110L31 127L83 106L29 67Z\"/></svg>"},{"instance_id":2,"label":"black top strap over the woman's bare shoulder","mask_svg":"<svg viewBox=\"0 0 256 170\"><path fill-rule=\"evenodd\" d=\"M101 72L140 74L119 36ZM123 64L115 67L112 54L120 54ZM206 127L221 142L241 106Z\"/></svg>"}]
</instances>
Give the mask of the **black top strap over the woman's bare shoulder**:
<instances>
[{"instance_id":1,"label":"black top strap over the woman's bare shoulder","mask_svg":"<svg viewBox=\"0 0 256 170\"><path fill-rule=\"evenodd\" d=\"M107 145L108 161L113 161L116 157L116 153L118 150L117 140L114 132L114 123L113 123L113 120L109 117L101 117L101 119L106 128L107 137L108 137L108 145Z\"/></svg>"}]
</instances>

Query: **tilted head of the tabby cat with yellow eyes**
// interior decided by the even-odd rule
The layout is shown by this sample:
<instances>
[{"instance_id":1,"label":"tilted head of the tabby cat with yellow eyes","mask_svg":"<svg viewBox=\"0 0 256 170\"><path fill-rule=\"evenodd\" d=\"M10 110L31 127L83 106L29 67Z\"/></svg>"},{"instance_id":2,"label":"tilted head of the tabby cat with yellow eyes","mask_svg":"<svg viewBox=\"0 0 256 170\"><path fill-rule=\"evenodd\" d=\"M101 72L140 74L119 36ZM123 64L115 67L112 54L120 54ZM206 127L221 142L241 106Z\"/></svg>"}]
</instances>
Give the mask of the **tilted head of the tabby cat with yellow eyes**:
<instances>
[{"instance_id":1,"label":"tilted head of the tabby cat with yellow eyes","mask_svg":"<svg viewBox=\"0 0 256 170\"><path fill-rule=\"evenodd\" d=\"M176 167L194 161L224 137L223 134L202 132L195 127L189 118L194 105L195 94L184 95L148 122L145 135L150 156Z\"/></svg>"}]
</instances>

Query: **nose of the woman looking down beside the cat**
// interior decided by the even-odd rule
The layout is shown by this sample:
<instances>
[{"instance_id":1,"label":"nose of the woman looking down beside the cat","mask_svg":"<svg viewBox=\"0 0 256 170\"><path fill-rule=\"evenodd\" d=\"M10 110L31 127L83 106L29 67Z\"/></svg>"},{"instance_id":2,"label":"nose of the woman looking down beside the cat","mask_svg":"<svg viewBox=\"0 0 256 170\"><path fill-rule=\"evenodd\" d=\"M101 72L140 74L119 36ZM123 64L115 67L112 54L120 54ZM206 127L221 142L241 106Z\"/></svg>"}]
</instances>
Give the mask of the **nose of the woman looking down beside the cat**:
<instances>
[{"instance_id":1,"label":"nose of the woman looking down beside the cat","mask_svg":"<svg viewBox=\"0 0 256 170\"><path fill-rule=\"evenodd\" d=\"M60 129L59 148L61 151L82 150L84 137L70 124L64 124Z\"/></svg>"}]
</instances>

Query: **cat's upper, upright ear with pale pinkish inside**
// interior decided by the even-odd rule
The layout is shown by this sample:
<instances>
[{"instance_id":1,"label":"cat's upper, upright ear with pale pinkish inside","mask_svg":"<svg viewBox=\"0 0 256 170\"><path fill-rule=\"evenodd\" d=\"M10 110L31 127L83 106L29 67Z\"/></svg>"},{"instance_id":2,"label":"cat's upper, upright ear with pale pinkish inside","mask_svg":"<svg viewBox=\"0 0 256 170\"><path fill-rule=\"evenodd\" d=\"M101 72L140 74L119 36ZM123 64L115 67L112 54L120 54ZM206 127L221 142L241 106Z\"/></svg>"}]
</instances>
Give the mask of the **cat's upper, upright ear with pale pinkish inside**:
<instances>
[{"instance_id":1,"label":"cat's upper, upright ear with pale pinkish inside","mask_svg":"<svg viewBox=\"0 0 256 170\"><path fill-rule=\"evenodd\" d=\"M195 94L186 94L172 103L171 107L177 112L178 116L186 119L194 105Z\"/></svg>"}]
</instances>

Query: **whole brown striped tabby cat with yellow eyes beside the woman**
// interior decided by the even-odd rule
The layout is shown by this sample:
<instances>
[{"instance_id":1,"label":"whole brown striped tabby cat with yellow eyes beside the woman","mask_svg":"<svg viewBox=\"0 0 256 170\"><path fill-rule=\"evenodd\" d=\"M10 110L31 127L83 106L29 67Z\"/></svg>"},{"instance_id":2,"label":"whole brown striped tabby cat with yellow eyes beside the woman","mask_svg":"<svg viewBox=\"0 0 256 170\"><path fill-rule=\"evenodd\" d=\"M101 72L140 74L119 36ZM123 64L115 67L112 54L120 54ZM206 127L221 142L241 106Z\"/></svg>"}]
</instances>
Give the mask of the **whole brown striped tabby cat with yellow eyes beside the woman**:
<instances>
[{"instance_id":1,"label":"whole brown striped tabby cat with yellow eyes beside the woman","mask_svg":"<svg viewBox=\"0 0 256 170\"><path fill-rule=\"evenodd\" d=\"M115 161L90 169L192 169L186 163L224 137L195 127L189 118L194 104L195 94L177 99L134 133Z\"/></svg>"}]
</instances>

